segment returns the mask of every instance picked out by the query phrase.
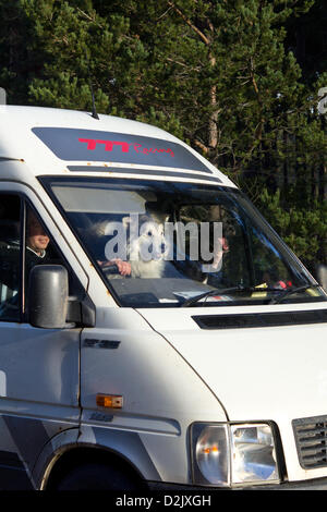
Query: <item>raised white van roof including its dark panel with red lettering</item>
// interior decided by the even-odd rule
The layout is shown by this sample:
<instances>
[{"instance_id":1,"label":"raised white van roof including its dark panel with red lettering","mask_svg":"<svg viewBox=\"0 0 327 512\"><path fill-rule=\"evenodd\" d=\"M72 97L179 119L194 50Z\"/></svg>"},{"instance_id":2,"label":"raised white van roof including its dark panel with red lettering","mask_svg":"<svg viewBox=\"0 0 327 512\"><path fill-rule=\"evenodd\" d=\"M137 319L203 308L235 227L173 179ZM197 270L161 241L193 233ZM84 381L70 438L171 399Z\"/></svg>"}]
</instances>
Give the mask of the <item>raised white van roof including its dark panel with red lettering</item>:
<instances>
[{"instance_id":1,"label":"raised white van roof including its dark panel with red lettering","mask_svg":"<svg viewBox=\"0 0 327 512\"><path fill-rule=\"evenodd\" d=\"M34 175L137 175L235 186L168 132L113 115L98 117L74 110L0 106L0 161L24 161Z\"/></svg>"}]
</instances>

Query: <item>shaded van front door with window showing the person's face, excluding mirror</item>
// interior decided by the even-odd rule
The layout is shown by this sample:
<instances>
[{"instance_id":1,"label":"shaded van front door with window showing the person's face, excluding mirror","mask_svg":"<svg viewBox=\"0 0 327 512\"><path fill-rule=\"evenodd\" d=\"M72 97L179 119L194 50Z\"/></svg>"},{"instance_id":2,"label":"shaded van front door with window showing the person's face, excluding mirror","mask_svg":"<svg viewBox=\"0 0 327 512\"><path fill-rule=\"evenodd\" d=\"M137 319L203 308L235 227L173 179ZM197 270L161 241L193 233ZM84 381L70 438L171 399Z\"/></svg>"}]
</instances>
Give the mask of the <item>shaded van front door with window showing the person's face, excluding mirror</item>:
<instances>
[{"instance_id":1,"label":"shaded van front door with window showing the person's face, excluding mirror","mask_svg":"<svg viewBox=\"0 0 327 512\"><path fill-rule=\"evenodd\" d=\"M44 263L66 266L27 202L0 194L0 489L26 488L43 447L80 418L81 330L27 320L28 273ZM69 273L70 293L78 294Z\"/></svg>"}]
</instances>

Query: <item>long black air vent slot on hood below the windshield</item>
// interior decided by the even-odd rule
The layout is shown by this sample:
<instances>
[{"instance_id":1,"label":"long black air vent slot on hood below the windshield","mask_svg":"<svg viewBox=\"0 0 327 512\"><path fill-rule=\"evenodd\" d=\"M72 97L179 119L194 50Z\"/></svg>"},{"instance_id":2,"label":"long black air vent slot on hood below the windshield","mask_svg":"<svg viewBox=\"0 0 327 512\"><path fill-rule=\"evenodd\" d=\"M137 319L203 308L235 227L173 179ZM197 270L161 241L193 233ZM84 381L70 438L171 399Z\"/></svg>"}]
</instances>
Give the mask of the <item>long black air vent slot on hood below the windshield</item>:
<instances>
[{"instance_id":1,"label":"long black air vent slot on hood below the windshield","mask_svg":"<svg viewBox=\"0 0 327 512\"><path fill-rule=\"evenodd\" d=\"M202 329L242 329L327 322L327 309L192 316Z\"/></svg>"}]
</instances>

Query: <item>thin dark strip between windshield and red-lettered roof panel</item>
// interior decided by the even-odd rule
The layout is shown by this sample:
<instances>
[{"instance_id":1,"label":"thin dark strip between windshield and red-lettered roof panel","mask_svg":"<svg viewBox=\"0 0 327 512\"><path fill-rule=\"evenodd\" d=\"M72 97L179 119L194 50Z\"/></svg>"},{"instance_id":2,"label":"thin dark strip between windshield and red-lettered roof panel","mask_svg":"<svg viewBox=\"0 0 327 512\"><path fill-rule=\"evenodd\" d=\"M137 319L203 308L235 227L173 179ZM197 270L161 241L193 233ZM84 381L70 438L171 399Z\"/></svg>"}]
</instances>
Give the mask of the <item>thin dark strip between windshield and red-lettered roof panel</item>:
<instances>
[{"instance_id":1,"label":"thin dark strip between windshield and red-lettered roof panel","mask_svg":"<svg viewBox=\"0 0 327 512\"><path fill-rule=\"evenodd\" d=\"M186 174L185 172L173 172L173 171L156 171L146 169L120 169L105 166L66 166L69 171L73 172L117 172L120 174L144 174L155 176L174 176L174 178L190 178L194 180L211 181L215 183L222 183L217 176L208 176L207 174Z\"/></svg>"}]
</instances>

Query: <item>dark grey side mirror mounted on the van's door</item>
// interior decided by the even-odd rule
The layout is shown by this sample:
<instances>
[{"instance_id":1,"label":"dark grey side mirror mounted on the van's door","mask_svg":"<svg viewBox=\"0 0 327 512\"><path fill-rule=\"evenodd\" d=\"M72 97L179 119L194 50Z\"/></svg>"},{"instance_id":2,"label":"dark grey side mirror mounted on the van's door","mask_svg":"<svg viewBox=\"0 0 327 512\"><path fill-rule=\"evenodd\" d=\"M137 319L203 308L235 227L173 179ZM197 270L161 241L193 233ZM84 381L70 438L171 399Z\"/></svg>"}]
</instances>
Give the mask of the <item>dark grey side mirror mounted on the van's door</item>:
<instances>
[{"instance_id":1,"label":"dark grey side mirror mounted on the van's door","mask_svg":"<svg viewBox=\"0 0 327 512\"><path fill-rule=\"evenodd\" d=\"M62 329L66 325L68 271L61 265L36 265L29 273L28 319L34 327Z\"/></svg>"}]
</instances>

